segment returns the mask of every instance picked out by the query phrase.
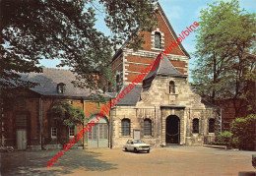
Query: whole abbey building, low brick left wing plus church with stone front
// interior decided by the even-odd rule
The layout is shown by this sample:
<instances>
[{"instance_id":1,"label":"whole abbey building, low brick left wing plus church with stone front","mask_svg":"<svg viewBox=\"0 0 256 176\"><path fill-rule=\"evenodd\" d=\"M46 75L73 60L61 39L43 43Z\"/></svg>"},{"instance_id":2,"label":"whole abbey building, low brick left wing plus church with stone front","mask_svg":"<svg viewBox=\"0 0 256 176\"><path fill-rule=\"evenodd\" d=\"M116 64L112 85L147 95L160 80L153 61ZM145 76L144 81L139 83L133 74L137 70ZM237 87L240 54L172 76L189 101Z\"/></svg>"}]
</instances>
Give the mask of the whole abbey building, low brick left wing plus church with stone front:
<instances>
[{"instance_id":1,"label":"whole abbey building, low brick left wing plus church with stone front","mask_svg":"<svg viewBox=\"0 0 256 176\"><path fill-rule=\"evenodd\" d=\"M111 70L116 88L107 92L109 100L126 88L153 63L161 51L177 36L160 4L156 5L159 26L144 31L143 49L134 52L123 45L113 55ZM141 139L162 147L166 145L203 145L204 139L220 131L220 108L194 93L188 83L189 54L182 44L160 60L135 88L101 118L92 131L80 140L78 147L123 147L127 140ZM89 99L89 89L74 88L75 76L63 69L43 69L27 79L40 86L18 91L15 107L5 112L2 121L2 144L18 149L56 148L57 134L73 138L83 125L58 131L47 111L56 99L65 99L85 112L84 126L105 106Z\"/></svg>"}]
</instances>

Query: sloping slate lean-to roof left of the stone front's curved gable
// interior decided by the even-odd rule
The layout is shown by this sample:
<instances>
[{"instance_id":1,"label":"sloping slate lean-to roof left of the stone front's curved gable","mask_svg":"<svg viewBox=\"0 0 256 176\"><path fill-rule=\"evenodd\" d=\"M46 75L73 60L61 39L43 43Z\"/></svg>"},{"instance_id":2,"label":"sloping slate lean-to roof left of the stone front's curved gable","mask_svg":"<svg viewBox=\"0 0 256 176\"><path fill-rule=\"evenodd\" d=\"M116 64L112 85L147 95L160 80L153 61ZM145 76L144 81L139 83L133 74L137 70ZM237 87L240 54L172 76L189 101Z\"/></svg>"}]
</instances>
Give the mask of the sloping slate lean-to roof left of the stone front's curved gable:
<instances>
[{"instance_id":1,"label":"sloping slate lean-to roof left of the stone front's curved gable","mask_svg":"<svg viewBox=\"0 0 256 176\"><path fill-rule=\"evenodd\" d=\"M128 86L124 86L123 89L126 87ZM122 90L120 90L120 92L121 91ZM128 93L126 93L126 95L122 99L120 99L119 102L117 101L117 106L135 106L136 103L139 101L141 91L141 86L134 87ZM126 90L124 92L126 92Z\"/></svg>"}]
</instances>

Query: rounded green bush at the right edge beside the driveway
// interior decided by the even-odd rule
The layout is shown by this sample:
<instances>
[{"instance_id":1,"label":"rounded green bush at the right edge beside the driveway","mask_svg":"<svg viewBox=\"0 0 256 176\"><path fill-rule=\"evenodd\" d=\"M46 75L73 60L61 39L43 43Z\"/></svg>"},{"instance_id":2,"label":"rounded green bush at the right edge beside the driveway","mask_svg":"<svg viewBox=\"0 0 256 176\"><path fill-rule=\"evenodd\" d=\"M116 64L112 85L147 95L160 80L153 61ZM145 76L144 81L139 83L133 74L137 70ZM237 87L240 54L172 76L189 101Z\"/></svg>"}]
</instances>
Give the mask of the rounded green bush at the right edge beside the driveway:
<instances>
[{"instance_id":1,"label":"rounded green bush at the right edge beside the driveway","mask_svg":"<svg viewBox=\"0 0 256 176\"><path fill-rule=\"evenodd\" d=\"M236 118L231 123L233 142L239 149L256 150L256 114Z\"/></svg>"}]
</instances>

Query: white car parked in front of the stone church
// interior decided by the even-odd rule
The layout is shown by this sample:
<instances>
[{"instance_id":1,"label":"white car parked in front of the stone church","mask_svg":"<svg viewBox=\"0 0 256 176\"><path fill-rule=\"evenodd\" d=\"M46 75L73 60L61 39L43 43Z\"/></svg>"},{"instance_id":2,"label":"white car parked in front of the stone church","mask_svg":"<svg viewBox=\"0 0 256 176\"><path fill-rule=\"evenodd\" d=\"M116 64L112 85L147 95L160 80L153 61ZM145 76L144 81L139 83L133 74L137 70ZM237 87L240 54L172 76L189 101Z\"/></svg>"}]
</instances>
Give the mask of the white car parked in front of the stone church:
<instances>
[{"instance_id":1,"label":"white car parked in front of the stone church","mask_svg":"<svg viewBox=\"0 0 256 176\"><path fill-rule=\"evenodd\" d=\"M147 151L150 152L151 146L145 144L141 140L128 140L126 145L124 146L125 150L132 150L134 152L139 152L139 151Z\"/></svg>"}]
</instances>

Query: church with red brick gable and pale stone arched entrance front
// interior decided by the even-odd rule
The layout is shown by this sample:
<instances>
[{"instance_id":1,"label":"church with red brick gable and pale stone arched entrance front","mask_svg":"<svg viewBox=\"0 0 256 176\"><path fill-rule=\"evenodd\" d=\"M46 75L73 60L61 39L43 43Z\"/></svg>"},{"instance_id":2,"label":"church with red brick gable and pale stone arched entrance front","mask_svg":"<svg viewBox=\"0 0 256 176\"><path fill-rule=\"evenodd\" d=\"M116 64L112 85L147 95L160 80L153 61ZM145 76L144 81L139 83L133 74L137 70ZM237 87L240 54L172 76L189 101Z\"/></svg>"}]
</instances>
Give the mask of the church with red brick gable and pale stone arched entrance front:
<instances>
[{"instance_id":1,"label":"church with red brick gable and pale stone arched entrance front","mask_svg":"<svg viewBox=\"0 0 256 176\"><path fill-rule=\"evenodd\" d=\"M111 68L117 92L131 84L176 40L160 4L156 15L159 26L142 33L142 50L134 52L124 45L113 56ZM206 138L220 131L220 108L204 102L188 83L189 59L179 44L163 56L156 70L117 102L110 117L112 147L122 147L130 139L141 139L152 146L203 145Z\"/></svg>"}]
</instances>

